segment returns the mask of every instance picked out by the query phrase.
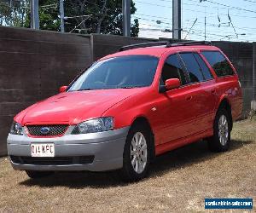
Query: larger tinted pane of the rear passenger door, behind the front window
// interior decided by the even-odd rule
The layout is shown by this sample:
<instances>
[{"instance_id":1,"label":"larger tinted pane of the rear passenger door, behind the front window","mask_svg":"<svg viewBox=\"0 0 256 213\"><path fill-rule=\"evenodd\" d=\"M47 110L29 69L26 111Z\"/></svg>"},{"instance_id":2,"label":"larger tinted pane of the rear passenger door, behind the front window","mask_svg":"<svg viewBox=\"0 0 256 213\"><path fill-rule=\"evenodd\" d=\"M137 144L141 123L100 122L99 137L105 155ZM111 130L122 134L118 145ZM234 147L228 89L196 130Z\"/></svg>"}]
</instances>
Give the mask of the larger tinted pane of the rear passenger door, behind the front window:
<instances>
[{"instance_id":1,"label":"larger tinted pane of the rear passenger door, behind the front window","mask_svg":"<svg viewBox=\"0 0 256 213\"><path fill-rule=\"evenodd\" d=\"M202 82L204 77L201 72L201 67L198 65L195 57L192 53L181 53L182 60L189 72L189 78L191 83Z\"/></svg>"}]
</instances>

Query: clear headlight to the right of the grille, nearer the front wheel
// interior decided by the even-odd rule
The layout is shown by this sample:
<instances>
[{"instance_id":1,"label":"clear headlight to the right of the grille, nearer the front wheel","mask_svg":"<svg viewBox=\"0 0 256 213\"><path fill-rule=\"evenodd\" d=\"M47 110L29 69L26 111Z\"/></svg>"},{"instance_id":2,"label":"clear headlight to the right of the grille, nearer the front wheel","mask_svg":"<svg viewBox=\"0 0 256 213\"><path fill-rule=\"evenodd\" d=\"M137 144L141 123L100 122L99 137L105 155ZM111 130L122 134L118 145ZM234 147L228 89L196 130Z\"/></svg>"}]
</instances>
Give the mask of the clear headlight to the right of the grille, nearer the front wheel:
<instances>
[{"instance_id":1,"label":"clear headlight to the right of the grille, nearer the front wheel","mask_svg":"<svg viewBox=\"0 0 256 213\"><path fill-rule=\"evenodd\" d=\"M72 134L86 134L113 130L113 118L103 117L84 121L73 129Z\"/></svg>"}]
</instances>

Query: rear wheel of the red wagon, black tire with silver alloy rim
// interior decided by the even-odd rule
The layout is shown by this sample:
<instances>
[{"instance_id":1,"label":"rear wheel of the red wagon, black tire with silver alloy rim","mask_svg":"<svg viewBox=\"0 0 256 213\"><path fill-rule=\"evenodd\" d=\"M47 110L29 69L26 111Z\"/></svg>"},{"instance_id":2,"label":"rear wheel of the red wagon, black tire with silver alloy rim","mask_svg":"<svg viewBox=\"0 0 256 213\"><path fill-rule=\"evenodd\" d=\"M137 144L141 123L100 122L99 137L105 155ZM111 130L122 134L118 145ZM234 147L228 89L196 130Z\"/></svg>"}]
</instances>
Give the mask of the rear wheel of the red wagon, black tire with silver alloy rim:
<instances>
[{"instance_id":1,"label":"rear wheel of the red wagon, black tire with silver alloy rim","mask_svg":"<svg viewBox=\"0 0 256 213\"><path fill-rule=\"evenodd\" d=\"M208 140L208 147L212 152L225 152L230 147L231 122L230 113L219 109L213 124L213 136Z\"/></svg>"}]
</instances>

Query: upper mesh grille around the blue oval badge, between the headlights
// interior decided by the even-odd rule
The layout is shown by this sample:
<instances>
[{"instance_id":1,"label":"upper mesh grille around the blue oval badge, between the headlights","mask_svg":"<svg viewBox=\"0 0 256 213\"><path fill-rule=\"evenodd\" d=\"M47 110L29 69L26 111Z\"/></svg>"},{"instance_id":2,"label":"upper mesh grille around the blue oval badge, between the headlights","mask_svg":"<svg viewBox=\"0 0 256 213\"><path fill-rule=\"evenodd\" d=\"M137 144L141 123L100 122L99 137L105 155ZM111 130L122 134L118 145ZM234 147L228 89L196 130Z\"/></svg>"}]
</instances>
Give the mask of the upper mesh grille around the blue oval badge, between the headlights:
<instances>
[{"instance_id":1,"label":"upper mesh grille around the blue oval badge, between the headlights","mask_svg":"<svg viewBox=\"0 0 256 213\"><path fill-rule=\"evenodd\" d=\"M29 132L29 135L37 137L49 137L49 136L61 136L67 130L68 125L29 125L26 126L26 129ZM42 133L42 128L49 128L48 133Z\"/></svg>"}]
</instances>

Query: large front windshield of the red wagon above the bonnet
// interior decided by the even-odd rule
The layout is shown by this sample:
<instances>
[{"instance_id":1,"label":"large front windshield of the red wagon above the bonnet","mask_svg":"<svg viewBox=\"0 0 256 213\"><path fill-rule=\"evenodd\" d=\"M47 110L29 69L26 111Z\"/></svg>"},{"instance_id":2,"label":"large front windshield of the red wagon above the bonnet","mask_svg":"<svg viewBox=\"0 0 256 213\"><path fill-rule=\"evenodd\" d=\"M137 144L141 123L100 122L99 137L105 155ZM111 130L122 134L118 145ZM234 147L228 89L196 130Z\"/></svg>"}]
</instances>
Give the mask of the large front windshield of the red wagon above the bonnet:
<instances>
[{"instance_id":1,"label":"large front windshield of the red wagon above the bonnet","mask_svg":"<svg viewBox=\"0 0 256 213\"><path fill-rule=\"evenodd\" d=\"M76 79L68 91L147 87L153 82L158 60L149 55L100 60Z\"/></svg>"}]
</instances>

